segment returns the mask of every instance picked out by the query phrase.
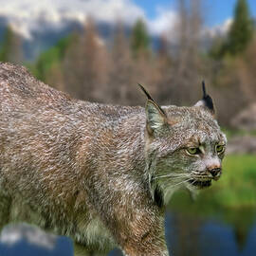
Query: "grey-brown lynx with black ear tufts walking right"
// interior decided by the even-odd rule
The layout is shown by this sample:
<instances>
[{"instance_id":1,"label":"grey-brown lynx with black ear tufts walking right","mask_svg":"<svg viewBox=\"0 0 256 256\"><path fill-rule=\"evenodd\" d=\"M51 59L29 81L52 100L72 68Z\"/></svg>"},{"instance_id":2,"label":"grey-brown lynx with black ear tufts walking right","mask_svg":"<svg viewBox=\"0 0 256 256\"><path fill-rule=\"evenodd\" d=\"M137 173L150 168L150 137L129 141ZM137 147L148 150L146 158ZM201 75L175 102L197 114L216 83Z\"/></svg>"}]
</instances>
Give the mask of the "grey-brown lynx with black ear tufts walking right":
<instances>
[{"instance_id":1,"label":"grey-brown lynx with black ear tufts walking right","mask_svg":"<svg viewBox=\"0 0 256 256\"><path fill-rule=\"evenodd\" d=\"M0 64L0 229L69 236L75 255L169 255L164 206L219 178L226 137L205 90L192 107L144 92L145 108L77 101Z\"/></svg>"}]
</instances>

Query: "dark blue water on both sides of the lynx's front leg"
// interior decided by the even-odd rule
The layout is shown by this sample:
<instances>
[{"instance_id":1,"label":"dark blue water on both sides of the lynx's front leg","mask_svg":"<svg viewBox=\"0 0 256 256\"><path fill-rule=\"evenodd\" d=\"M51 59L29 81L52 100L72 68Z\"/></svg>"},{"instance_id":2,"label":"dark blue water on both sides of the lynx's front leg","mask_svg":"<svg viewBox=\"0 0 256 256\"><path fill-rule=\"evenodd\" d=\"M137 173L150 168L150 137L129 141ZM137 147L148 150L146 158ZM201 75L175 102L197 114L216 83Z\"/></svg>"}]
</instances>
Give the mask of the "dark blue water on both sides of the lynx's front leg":
<instances>
[{"instance_id":1,"label":"dark blue water on both sides of the lynx's front leg","mask_svg":"<svg viewBox=\"0 0 256 256\"><path fill-rule=\"evenodd\" d=\"M225 216L199 217L188 212L168 211L167 245L174 256L255 256L256 215L248 217L247 212L229 212L232 217L227 221ZM71 256L72 251L72 243L65 237L59 237L56 247L51 250L32 246L26 241L11 247L0 243L1 256ZM109 254L120 255L118 249Z\"/></svg>"}]
</instances>

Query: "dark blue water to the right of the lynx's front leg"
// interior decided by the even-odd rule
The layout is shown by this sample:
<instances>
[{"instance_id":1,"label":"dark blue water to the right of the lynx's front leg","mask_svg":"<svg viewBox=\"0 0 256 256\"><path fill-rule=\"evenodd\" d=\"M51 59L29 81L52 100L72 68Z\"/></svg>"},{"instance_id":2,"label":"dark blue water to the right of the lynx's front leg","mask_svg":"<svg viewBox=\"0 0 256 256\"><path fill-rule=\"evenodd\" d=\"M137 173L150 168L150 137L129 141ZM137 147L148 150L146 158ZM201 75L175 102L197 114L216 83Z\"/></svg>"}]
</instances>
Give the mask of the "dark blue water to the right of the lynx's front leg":
<instances>
[{"instance_id":1,"label":"dark blue water to the right of the lynx's front leg","mask_svg":"<svg viewBox=\"0 0 256 256\"><path fill-rule=\"evenodd\" d=\"M170 211L166 215L166 240L174 256L255 256L256 216L254 224L244 231L214 218ZM122 254L117 250L110 255Z\"/></svg>"}]
</instances>

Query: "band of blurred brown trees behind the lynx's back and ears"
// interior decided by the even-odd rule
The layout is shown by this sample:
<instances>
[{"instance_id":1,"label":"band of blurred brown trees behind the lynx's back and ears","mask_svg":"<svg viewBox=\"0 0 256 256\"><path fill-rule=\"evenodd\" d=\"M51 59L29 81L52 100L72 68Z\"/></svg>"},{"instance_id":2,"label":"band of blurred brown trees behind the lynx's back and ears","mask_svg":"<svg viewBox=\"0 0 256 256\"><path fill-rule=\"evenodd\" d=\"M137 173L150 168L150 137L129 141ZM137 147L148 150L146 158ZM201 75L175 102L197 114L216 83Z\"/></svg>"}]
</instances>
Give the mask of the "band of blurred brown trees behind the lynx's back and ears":
<instances>
[{"instance_id":1,"label":"band of blurred brown trees behind the lynx's back and ears","mask_svg":"<svg viewBox=\"0 0 256 256\"><path fill-rule=\"evenodd\" d=\"M89 19L80 34L65 38L40 56L37 77L78 99L125 105L144 102L137 82L160 103L192 104L201 97L199 84L206 79L219 118L229 125L232 116L255 101L256 44L249 44L236 58L207 58L201 47L203 0L176 1L175 30L162 35L154 54L143 21L137 21L130 38L118 21L114 40L108 41L113 45L107 47Z\"/></svg>"}]
</instances>

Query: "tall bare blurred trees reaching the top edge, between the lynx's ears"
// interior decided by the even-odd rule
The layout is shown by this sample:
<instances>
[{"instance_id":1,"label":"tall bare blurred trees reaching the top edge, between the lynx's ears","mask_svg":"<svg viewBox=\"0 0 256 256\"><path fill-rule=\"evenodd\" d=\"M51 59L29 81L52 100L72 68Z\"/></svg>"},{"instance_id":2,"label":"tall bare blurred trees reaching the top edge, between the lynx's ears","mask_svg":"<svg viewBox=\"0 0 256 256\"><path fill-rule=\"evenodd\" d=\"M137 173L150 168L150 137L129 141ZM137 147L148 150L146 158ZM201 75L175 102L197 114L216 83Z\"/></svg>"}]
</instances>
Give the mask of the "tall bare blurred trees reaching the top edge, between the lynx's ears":
<instances>
[{"instance_id":1,"label":"tall bare blurred trees reaching the top edge, between the lynx's ears","mask_svg":"<svg viewBox=\"0 0 256 256\"><path fill-rule=\"evenodd\" d=\"M200 57L203 26L201 0L177 0L176 48L171 80L167 83L174 104L196 101L202 80Z\"/></svg>"}]
</instances>

